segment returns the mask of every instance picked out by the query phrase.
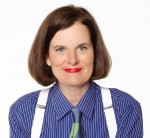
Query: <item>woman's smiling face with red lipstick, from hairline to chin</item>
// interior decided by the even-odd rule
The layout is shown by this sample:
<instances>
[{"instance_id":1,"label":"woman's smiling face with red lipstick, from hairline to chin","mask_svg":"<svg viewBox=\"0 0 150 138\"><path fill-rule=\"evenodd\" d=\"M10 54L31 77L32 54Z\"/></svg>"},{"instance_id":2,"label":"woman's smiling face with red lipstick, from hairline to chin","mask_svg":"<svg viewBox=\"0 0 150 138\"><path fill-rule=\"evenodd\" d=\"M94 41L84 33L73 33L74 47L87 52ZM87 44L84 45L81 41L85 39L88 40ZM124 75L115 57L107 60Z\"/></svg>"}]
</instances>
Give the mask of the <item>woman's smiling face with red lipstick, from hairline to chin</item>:
<instances>
[{"instance_id":1,"label":"woman's smiling face with red lipstick, from hairline to chin","mask_svg":"<svg viewBox=\"0 0 150 138\"><path fill-rule=\"evenodd\" d=\"M51 40L47 65L60 86L85 86L93 73L94 52L86 26L76 22Z\"/></svg>"}]
</instances>

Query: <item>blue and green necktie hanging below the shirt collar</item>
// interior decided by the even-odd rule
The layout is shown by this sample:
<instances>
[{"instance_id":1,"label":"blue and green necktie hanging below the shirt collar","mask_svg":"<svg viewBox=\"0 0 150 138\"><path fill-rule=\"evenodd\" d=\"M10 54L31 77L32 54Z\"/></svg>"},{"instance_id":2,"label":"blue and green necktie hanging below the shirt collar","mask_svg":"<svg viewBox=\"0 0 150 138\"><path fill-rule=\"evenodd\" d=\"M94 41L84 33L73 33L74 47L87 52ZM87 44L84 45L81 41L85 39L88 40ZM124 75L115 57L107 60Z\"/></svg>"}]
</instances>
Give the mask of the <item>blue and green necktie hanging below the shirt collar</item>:
<instances>
[{"instance_id":1,"label":"blue and green necktie hanging below the shirt collar","mask_svg":"<svg viewBox=\"0 0 150 138\"><path fill-rule=\"evenodd\" d=\"M81 112L77 108L73 108L72 112L74 114L75 121L72 125L70 138L85 138L85 134L80 124Z\"/></svg>"}]
</instances>

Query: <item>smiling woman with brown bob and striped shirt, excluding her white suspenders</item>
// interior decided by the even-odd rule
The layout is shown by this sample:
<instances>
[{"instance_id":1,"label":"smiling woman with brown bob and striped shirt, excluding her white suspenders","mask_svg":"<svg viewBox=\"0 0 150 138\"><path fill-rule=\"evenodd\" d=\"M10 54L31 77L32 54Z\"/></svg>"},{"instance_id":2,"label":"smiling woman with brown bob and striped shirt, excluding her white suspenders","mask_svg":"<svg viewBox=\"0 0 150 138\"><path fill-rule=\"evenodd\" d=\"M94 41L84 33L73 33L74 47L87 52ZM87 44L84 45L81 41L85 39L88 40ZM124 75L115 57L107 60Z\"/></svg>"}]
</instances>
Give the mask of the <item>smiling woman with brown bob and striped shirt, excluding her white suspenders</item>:
<instances>
[{"instance_id":1,"label":"smiling woman with brown bob and striped shirt, excluding her white suspenders","mask_svg":"<svg viewBox=\"0 0 150 138\"><path fill-rule=\"evenodd\" d=\"M108 75L111 59L98 25L86 9L70 5L51 12L39 28L28 65L31 76L39 84L54 84L48 94L41 138L74 137L74 107L82 113L80 128L84 137L109 137L102 88L93 80ZM142 138L142 111L138 101L118 89L109 90L117 124L116 137ZM39 93L29 93L11 106L11 138L31 137Z\"/></svg>"}]
</instances>

